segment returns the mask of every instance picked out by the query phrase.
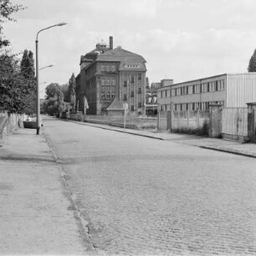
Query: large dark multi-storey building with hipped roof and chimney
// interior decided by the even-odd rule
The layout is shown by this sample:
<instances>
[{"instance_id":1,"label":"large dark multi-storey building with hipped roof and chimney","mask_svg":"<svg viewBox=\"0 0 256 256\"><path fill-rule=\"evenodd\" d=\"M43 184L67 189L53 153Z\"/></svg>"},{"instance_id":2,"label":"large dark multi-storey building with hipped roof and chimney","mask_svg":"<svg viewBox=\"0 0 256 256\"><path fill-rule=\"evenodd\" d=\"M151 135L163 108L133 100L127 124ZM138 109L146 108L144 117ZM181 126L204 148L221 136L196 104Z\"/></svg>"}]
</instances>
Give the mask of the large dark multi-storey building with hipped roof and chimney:
<instances>
[{"instance_id":1,"label":"large dark multi-storey building with hipped roof and chimney","mask_svg":"<svg viewBox=\"0 0 256 256\"><path fill-rule=\"evenodd\" d=\"M101 41L81 56L76 77L77 110L103 115L115 100L115 106L127 103L131 115L145 115L145 98L146 60L141 55L121 47L113 49L110 37L109 46ZM113 112L113 105L110 108Z\"/></svg>"}]
</instances>

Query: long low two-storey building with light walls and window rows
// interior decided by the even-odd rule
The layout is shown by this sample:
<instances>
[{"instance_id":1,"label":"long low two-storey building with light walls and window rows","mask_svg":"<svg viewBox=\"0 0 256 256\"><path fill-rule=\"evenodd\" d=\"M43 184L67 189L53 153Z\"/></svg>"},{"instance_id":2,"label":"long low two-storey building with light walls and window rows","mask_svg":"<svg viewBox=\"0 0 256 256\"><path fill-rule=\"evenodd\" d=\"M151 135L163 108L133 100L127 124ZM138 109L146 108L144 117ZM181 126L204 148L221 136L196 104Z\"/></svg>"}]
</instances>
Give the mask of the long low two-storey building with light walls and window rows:
<instances>
[{"instance_id":1,"label":"long low two-storey building with light walls and window rows","mask_svg":"<svg viewBox=\"0 0 256 256\"><path fill-rule=\"evenodd\" d=\"M207 110L210 104L247 107L256 101L256 73L219 74L158 88L159 110Z\"/></svg>"}]
</instances>

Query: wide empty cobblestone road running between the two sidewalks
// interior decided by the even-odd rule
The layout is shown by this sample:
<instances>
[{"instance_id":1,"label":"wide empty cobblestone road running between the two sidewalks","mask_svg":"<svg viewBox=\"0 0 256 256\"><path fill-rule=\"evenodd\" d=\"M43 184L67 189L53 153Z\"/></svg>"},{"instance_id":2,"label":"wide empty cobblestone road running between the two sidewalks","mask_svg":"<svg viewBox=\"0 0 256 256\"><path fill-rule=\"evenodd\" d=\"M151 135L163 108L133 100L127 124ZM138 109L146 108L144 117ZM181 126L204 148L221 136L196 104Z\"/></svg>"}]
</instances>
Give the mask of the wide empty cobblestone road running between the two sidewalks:
<instances>
[{"instance_id":1,"label":"wide empty cobblestone road running between the two sidewalks","mask_svg":"<svg viewBox=\"0 0 256 256\"><path fill-rule=\"evenodd\" d=\"M97 253L256 254L254 159L59 125L46 133Z\"/></svg>"}]
</instances>

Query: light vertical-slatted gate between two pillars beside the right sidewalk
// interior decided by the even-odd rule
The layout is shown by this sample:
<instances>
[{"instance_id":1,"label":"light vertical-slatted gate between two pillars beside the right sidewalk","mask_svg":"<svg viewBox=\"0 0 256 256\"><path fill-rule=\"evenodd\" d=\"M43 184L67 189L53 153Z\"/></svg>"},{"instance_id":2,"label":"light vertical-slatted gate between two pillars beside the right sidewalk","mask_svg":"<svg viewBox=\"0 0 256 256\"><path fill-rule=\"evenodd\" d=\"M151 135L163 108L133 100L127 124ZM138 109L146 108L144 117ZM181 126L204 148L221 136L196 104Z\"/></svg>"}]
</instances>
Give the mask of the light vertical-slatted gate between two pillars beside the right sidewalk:
<instances>
[{"instance_id":1,"label":"light vertical-slatted gate between two pillars beside the right sidewalk","mask_svg":"<svg viewBox=\"0 0 256 256\"><path fill-rule=\"evenodd\" d=\"M223 108L223 137L241 140L248 136L248 108Z\"/></svg>"}]
</instances>

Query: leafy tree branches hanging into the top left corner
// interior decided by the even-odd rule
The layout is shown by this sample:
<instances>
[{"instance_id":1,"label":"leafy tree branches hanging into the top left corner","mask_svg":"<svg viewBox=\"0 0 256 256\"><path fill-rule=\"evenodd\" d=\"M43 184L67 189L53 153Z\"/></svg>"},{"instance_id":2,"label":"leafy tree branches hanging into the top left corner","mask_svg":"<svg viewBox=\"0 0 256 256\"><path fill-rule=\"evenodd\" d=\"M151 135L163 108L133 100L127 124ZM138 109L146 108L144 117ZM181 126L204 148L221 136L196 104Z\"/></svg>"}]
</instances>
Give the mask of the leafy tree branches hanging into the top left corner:
<instances>
[{"instance_id":1,"label":"leafy tree branches hanging into the top left corner","mask_svg":"<svg viewBox=\"0 0 256 256\"><path fill-rule=\"evenodd\" d=\"M3 36L3 23L16 21L12 14L23 9L24 7L21 4L13 4L10 0L0 0L0 49L10 44L9 40Z\"/></svg>"}]
</instances>

